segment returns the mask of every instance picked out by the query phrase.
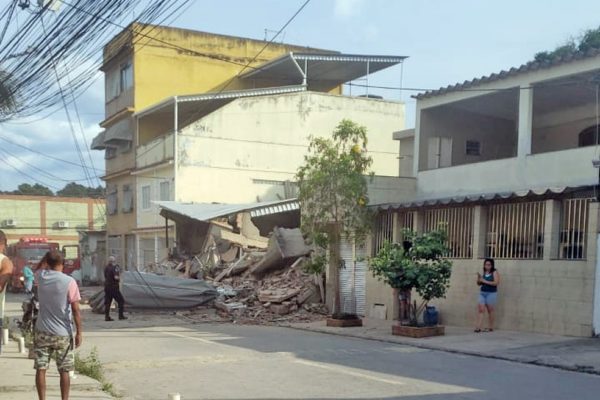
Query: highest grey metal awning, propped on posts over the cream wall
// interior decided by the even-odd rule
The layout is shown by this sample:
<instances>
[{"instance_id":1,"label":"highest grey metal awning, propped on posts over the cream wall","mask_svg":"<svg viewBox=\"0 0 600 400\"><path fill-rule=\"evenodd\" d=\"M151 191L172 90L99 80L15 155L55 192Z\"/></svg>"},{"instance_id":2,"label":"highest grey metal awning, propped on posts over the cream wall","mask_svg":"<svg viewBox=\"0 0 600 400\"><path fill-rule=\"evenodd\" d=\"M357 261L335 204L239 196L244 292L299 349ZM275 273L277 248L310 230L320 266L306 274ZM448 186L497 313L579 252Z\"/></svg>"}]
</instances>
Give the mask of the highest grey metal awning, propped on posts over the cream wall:
<instances>
[{"instance_id":1,"label":"highest grey metal awning, propped on posts over the cream wall","mask_svg":"<svg viewBox=\"0 0 600 400\"><path fill-rule=\"evenodd\" d=\"M255 81L304 83L335 88L346 82L401 64L405 56L289 53L240 78Z\"/></svg>"}]
</instances>

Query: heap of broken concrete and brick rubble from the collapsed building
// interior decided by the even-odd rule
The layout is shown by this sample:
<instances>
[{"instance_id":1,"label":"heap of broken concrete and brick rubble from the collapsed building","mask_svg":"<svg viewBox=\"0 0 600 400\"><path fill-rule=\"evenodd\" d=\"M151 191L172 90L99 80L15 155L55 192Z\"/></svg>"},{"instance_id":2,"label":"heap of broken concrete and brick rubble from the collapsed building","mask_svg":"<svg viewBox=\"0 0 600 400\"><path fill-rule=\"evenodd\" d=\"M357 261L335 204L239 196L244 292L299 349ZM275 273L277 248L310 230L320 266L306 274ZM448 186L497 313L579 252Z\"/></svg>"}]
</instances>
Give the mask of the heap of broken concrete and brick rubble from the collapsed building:
<instances>
[{"instance_id":1,"label":"heap of broken concrete and brick rubble from the collapsed building","mask_svg":"<svg viewBox=\"0 0 600 400\"><path fill-rule=\"evenodd\" d=\"M228 250L226 257L196 255L146 271L211 283L218 293L214 307L225 320L247 324L314 321L322 319L327 309L322 281L303 269L310 250L299 229L276 228L264 249L239 246ZM203 262L207 259L211 260L208 265Z\"/></svg>"}]
</instances>

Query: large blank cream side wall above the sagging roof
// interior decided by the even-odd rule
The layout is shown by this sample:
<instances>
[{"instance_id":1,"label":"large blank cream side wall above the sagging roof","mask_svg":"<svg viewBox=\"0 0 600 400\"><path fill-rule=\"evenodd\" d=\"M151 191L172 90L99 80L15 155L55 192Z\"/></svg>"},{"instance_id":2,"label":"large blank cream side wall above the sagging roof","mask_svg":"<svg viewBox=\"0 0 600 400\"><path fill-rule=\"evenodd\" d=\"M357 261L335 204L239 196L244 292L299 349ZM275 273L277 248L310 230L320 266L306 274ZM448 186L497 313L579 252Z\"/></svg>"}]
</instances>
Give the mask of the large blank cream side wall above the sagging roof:
<instances>
[{"instance_id":1,"label":"large blank cream side wall above the sagging roof","mask_svg":"<svg viewBox=\"0 0 600 400\"><path fill-rule=\"evenodd\" d=\"M177 200L276 200L294 180L309 137L329 136L343 118L365 125L377 175L396 176L404 105L387 101L295 93L237 99L184 128L179 135Z\"/></svg>"}]
</instances>

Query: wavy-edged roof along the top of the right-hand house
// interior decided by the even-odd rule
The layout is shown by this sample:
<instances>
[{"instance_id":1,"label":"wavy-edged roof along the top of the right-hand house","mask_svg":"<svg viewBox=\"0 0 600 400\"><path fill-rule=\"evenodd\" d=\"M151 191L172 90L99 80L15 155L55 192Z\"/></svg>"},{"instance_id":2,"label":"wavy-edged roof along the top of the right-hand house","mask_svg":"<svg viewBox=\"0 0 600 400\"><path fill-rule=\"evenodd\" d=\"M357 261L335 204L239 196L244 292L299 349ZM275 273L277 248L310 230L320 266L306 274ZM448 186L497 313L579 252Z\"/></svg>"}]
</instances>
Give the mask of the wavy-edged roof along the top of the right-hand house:
<instances>
[{"instance_id":1,"label":"wavy-edged roof along the top of the right-hand house","mask_svg":"<svg viewBox=\"0 0 600 400\"><path fill-rule=\"evenodd\" d=\"M456 83L454 85L448 85L442 87L437 90L429 90L424 93L420 93L414 95L413 98L421 100L430 97L440 96L446 93L456 92L463 89L472 88L474 86L478 86L484 83L490 83L499 81L502 79L510 78L516 75L520 75L526 72L538 71L541 69L552 68L562 64L568 64L570 62L584 60L586 58L592 58L600 55L600 49L592 49L587 52L574 52L571 54L566 54L563 56L554 57L550 61L546 62L538 62L538 61L530 61L525 63L519 67L513 67L509 70L502 70L498 73L490 74L487 76L482 76L481 78L474 78L469 81L464 81L463 83ZM600 65L599 65L600 67Z\"/></svg>"}]
</instances>

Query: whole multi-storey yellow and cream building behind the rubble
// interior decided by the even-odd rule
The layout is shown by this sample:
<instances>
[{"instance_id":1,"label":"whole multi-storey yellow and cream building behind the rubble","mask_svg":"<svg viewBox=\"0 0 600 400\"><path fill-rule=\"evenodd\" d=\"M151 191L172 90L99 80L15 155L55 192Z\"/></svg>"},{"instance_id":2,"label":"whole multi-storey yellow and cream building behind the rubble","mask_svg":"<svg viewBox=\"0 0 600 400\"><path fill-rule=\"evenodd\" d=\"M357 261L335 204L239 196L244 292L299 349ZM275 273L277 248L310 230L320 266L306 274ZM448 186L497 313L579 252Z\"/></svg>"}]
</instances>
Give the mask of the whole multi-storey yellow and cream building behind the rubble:
<instances>
[{"instance_id":1,"label":"whole multi-storey yellow and cream building behind the rubble","mask_svg":"<svg viewBox=\"0 0 600 400\"><path fill-rule=\"evenodd\" d=\"M107 158L108 252L126 266L159 262L172 245L155 201L294 197L309 137L344 118L369 129L374 171L396 175L387 132L403 128L404 105L343 96L342 85L405 57L284 44L261 53L263 41L164 27L152 33L160 42L138 38L138 48L136 29L106 47L107 119L92 145ZM129 89L113 98L110 76L129 62Z\"/></svg>"}]
</instances>

